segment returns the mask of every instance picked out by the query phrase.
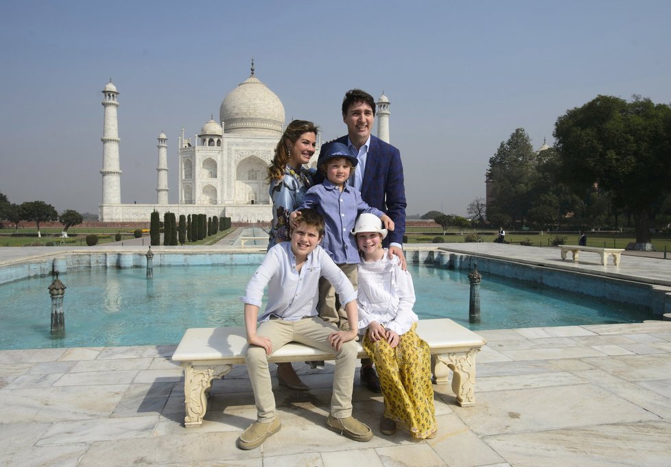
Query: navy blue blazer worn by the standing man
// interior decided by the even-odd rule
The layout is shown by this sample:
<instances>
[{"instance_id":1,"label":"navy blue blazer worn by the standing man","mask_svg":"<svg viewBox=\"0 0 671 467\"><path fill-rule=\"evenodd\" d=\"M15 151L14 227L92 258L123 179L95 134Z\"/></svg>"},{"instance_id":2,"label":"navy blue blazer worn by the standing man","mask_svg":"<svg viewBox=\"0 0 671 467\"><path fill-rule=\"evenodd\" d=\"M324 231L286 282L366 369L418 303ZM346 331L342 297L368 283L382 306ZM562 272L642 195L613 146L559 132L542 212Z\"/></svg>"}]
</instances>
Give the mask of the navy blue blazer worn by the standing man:
<instances>
[{"instance_id":1,"label":"navy blue blazer worn by the standing man","mask_svg":"<svg viewBox=\"0 0 671 467\"><path fill-rule=\"evenodd\" d=\"M347 144L347 135L336 139ZM321 183L324 176L317 171L315 183ZM370 135L370 147L366 157L366 170L361 183L361 197L368 206L378 208L391 217L395 230L387 235L384 245L390 242L403 244L405 235L405 185L403 184L403 164L401 152L396 147Z\"/></svg>"}]
</instances>

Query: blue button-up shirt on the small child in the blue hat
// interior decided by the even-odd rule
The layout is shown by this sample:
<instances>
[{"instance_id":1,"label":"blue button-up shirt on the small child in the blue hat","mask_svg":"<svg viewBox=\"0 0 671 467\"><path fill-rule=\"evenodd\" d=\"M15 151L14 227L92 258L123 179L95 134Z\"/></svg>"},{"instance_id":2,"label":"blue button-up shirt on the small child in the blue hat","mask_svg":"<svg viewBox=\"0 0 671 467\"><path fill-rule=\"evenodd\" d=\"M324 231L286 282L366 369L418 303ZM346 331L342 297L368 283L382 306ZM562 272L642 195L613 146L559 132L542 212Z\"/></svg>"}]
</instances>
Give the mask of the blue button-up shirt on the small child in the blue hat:
<instances>
[{"instance_id":1,"label":"blue button-up shirt on the small child in the blue hat","mask_svg":"<svg viewBox=\"0 0 671 467\"><path fill-rule=\"evenodd\" d=\"M325 235L322 247L329 253L336 264L359 264L361 259L357 243L352 235L354 223L361 213L384 215L377 208L372 208L361 198L361 193L348 184L340 191L338 187L324 180L322 184L311 187L305 193L305 200L298 211L305 208L316 208L324 217Z\"/></svg>"}]
</instances>

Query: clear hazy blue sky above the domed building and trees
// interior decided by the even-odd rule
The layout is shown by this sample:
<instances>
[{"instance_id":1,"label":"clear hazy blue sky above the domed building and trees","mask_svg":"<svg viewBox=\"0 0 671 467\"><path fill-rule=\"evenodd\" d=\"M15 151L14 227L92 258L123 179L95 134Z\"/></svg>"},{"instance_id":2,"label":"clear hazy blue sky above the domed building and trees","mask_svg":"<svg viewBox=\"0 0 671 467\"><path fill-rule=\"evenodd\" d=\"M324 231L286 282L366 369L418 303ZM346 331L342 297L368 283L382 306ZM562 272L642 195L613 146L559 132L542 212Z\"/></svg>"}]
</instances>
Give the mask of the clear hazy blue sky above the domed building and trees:
<instances>
[{"instance_id":1,"label":"clear hazy blue sky above the domed building and trees","mask_svg":"<svg viewBox=\"0 0 671 467\"><path fill-rule=\"evenodd\" d=\"M534 147L599 94L671 102L671 2L13 1L0 16L0 192L97 213L103 86L119 89L121 201L156 202L156 137L193 136L256 75L287 121L345 132L344 92L391 101L408 214L464 215L499 143Z\"/></svg>"}]
</instances>

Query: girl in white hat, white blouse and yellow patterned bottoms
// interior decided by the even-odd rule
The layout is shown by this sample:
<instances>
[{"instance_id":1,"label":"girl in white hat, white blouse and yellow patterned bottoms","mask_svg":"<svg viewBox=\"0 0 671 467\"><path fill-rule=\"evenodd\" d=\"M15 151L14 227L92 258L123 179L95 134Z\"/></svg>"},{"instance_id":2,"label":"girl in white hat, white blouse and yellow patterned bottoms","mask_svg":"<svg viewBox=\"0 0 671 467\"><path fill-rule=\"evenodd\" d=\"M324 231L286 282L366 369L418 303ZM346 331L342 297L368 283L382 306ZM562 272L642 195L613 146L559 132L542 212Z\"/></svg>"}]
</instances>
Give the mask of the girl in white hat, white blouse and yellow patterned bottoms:
<instances>
[{"instance_id":1,"label":"girl in white hat, white blouse and yellow patterned bottoms","mask_svg":"<svg viewBox=\"0 0 671 467\"><path fill-rule=\"evenodd\" d=\"M413 438L434 438L431 353L415 332L419 318L412 311L412 277L397 256L390 258L382 248L387 230L377 216L360 215L352 234L362 258L357 267L359 330L365 331L363 346L375 362L384 396L380 431L392 435L403 422Z\"/></svg>"}]
</instances>

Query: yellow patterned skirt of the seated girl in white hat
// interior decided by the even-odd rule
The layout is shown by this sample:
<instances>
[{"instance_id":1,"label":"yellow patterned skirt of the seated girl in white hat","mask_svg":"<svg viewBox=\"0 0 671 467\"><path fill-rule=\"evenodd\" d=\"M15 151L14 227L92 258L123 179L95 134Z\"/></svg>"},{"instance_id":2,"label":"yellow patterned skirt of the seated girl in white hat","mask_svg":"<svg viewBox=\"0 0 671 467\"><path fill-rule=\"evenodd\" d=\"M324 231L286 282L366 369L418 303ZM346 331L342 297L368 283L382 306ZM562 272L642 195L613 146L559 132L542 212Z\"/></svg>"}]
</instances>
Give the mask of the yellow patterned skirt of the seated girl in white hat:
<instances>
[{"instance_id":1,"label":"yellow patterned skirt of the seated girl in white hat","mask_svg":"<svg viewBox=\"0 0 671 467\"><path fill-rule=\"evenodd\" d=\"M373 342L364 337L363 346L375 362L384 396L384 416L404 422L414 438L424 439L438 429L431 383L429 344L415 332L417 323L400 336L399 345Z\"/></svg>"}]
</instances>

